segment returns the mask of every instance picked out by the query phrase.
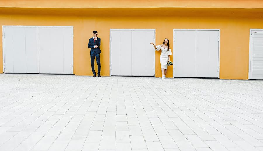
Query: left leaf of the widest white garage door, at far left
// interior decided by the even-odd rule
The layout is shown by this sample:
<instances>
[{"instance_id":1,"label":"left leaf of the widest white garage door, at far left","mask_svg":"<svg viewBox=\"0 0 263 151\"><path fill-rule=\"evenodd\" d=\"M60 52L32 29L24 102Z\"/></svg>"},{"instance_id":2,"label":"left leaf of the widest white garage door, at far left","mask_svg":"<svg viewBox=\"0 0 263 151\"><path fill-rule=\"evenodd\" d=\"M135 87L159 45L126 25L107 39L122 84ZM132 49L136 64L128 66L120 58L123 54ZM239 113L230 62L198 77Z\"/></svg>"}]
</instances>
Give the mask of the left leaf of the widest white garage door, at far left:
<instances>
[{"instance_id":1,"label":"left leaf of the widest white garage door, at far left","mask_svg":"<svg viewBox=\"0 0 263 151\"><path fill-rule=\"evenodd\" d=\"M38 73L37 28L4 27L5 73Z\"/></svg>"}]
</instances>

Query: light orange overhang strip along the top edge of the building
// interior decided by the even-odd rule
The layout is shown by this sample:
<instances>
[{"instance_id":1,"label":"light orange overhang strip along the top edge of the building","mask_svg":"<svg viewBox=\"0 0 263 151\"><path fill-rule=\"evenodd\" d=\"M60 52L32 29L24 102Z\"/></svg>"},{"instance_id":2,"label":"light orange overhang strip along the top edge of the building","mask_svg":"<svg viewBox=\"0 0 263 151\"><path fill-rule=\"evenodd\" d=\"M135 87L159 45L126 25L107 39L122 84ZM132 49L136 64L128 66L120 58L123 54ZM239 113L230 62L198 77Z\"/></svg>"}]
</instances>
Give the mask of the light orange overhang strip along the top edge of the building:
<instances>
[{"instance_id":1,"label":"light orange overhang strip along the top edge of the building","mask_svg":"<svg viewBox=\"0 0 263 151\"><path fill-rule=\"evenodd\" d=\"M262 0L0 0L12 8L262 8Z\"/></svg>"}]
</instances>

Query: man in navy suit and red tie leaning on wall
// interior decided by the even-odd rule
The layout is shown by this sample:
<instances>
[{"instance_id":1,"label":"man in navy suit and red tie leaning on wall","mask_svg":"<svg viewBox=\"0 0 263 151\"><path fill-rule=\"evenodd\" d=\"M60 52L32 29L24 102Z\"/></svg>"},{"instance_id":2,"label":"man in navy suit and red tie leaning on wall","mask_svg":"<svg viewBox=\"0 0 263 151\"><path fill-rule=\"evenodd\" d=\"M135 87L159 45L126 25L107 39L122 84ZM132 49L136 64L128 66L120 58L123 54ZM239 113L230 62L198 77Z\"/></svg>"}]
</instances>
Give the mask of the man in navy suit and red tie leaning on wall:
<instances>
[{"instance_id":1,"label":"man in navy suit and red tie leaning on wall","mask_svg":"<svg viewBox=\"0 0 263 151\"><path fill-rule=\"evenodd\" d=\"M90 60L91 60L91 69L93 72L93 77L96 77L96 72L94 69L94 62L95 62L95 57L98 65L98 77L101 77L100 72L101 72L101 62L100 62L100 45L101 45L101 38L98 38L98 32L93 31L93 37L89 39L89 44L88 47L90 48Z\"/></svg>"}]
</instances>

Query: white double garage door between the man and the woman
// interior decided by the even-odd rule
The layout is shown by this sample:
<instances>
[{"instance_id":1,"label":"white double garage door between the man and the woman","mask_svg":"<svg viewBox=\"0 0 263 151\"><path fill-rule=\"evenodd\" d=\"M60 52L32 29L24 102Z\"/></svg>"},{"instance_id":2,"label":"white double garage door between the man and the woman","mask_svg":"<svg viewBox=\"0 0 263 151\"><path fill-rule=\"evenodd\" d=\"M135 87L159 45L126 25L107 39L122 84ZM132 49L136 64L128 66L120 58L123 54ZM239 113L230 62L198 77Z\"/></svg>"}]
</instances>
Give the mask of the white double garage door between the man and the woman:
<instances>
[{"instance_id":1,"label":"white double garage door between the man and the woman","mask_svg":"<svg viewBox=\"0 0 263 151\"><path fill-rule=\"evenodd\" d=\"M111 75L154 75L154 30L111 30Z\"/></svg>"}]
</instances>

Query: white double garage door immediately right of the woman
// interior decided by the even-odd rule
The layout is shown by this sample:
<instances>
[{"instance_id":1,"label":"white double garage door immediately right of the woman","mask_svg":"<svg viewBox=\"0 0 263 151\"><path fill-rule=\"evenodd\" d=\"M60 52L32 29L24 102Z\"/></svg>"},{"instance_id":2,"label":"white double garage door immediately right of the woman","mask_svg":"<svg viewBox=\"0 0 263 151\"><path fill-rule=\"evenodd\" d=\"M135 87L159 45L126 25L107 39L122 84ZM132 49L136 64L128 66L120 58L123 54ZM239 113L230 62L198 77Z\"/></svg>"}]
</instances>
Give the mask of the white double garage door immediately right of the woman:
<instances>
[{"instance_id":1,"label":"white double garage door immediately right of the woman","mask_svg":"<svg viewBox=\"0 0 263 151\"><path fill-rule=\"evenodd\" d=\"M174 30L174 77L217 78L218 30Z\"/></svg>"}]
</instances>

